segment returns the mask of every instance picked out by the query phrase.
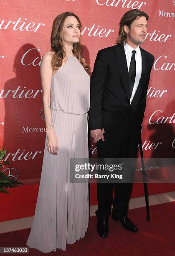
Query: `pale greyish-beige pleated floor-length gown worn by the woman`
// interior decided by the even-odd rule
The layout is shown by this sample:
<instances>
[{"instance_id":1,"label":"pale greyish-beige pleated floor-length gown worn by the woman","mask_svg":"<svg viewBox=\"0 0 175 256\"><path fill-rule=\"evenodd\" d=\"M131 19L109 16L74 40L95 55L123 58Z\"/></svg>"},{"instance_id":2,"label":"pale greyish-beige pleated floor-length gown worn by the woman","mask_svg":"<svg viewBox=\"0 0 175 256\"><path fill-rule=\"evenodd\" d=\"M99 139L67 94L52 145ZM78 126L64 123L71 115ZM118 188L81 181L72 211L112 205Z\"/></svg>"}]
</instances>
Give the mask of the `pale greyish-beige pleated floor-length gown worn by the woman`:
<instances>
[{"instance_id":1,"label":"pale greyish-beige pleated floor-length gown worn by the woman","mask_svg":"<svg viewBox=\"0 0 175 256\"><path fill-rule=\"evenodd\" d=\"M89 75L75 56L68 56L51 78L51 117L58 155L49 153L45 142L36 211L26 243L30 248L66 250L66 243L85 236L88 184L70 183L70 158L88 158L89 93Z\"/></svg>"}]
</instances>

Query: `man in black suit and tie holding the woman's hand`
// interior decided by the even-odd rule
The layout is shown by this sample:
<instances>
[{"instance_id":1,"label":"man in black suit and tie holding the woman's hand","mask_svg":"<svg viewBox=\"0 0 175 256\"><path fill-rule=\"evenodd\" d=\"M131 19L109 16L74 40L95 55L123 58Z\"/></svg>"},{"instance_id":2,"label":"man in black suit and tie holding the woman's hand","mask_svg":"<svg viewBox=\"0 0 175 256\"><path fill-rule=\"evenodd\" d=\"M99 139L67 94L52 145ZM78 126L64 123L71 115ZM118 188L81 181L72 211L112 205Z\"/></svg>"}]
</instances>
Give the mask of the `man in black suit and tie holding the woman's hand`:
<instances>
[{"instance_id":1,"label":"man in black suit and tie holding the woman's hand","mask_svg":"<svg viewBox=\"0 0 175 256\"><path fill-rule=\"evenodd\" d=\"M142 133L147 88L154 56L140 44L147 34L148 15L129 10L120 21L117 45L102 49L96 56L91 76L89 125L98 158L135 158ZM112 198L114 185L115 196ZM108 235L108 218L136 232L127 217L131 183L97 184L97 231Z\"/></svg>"}]
</instances>

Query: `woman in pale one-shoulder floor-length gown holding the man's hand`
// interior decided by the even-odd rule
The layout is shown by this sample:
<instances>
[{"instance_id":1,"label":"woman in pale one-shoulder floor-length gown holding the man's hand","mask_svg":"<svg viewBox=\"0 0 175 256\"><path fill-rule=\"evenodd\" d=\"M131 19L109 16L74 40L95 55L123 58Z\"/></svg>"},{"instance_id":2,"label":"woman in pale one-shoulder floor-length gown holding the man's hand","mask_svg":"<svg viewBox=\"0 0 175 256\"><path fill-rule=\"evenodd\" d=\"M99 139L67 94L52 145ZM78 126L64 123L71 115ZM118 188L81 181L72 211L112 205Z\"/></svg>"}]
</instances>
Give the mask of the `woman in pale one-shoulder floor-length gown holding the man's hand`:
<instances>
[{"instance_id":1,"label":"woman in pale one-shoulder floor-length gown holding the man's hand","mask_svg":"<svg viewBox=\"0 0 175 256\"><path fill-rule=\"evenodd\" d=\"M81 23L74 13L53 21L52 51L43 55L41 82L46 142L36 211L27 245L66 250L89 223L87 183L70 183L70 159L88 158L89 66L80 52Z\"/></svg>"}]
</instances>

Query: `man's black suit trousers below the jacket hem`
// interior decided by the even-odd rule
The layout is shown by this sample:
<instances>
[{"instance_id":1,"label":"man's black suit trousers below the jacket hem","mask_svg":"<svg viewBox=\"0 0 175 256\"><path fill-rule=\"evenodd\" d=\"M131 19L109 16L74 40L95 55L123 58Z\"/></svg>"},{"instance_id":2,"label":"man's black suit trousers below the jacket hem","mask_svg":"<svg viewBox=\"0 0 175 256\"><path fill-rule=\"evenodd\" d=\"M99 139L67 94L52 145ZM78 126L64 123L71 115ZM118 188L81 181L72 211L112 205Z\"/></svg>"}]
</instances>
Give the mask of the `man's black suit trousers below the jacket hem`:
<instances>
[{"instance_id":1,"label":"man's black suit trousers below the jacket hem","mask_svg":"<svg viewBox=\"0 0 175 256\"><path fill-rule=\"evenodd\" d=\"M98 158L136 158L139 138L128 135L125 138L114 139L107 133L104 133L104 138L105 141L100 140L96 143ZM133 172L132 175L134 177ZM132 187L133 183L97 183L96 216L99 219L109 218L112 202L112 212L116 217L127 216Z\"/></svg>"}]
</instances>

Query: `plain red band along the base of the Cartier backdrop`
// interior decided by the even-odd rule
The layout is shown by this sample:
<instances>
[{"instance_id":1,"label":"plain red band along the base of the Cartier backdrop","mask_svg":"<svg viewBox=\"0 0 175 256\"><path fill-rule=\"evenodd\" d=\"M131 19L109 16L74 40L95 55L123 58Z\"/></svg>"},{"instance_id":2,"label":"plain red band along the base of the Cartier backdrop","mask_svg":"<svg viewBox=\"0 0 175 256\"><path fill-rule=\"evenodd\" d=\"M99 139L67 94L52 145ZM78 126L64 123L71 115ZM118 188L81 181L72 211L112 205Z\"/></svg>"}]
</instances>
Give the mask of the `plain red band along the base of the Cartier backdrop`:
<instances>
[{"instance_id":1,"label":"plain red band along the base of the Cartier backdrop","mask_svg":"<svg viewBox=\"0 0 175 256\"><path fill-rule=\"evenodd\" d=\"M25 185L20 187L11 187L8 191L11 193L0 195L0 222L14 220L33 216L36 208L39 184ZM149 195L155 195L165 192L175 191L175 184L148 183ZM132 190L133 197L143 197L143 184L134 183ZM96 184L90 184L90 204L97 205ZM14 207L15 205L15 207ZM24 207L25 205L25 207ZM21 211L23 209L23 211Z\"/></svg>"}]
</instances>

